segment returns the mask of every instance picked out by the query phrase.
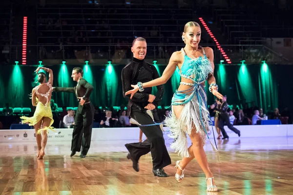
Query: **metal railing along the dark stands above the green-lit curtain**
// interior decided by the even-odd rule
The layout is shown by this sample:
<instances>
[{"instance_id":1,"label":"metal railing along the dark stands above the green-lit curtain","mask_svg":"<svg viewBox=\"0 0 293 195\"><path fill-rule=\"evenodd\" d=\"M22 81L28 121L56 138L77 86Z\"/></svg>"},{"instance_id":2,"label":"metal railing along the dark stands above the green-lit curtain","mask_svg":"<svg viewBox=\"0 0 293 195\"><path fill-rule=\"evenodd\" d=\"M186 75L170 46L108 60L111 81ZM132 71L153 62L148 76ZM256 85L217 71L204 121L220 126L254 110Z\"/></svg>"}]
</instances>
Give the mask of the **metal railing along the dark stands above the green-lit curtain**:
<instances>
[{"instance_id":1,"label":"metal railing along the dark stands above the green-lit curtain","mask_svg":"<svg viewBox=\"0 0 293 195\"><path fill-rule=\"evenodd\" d=\"M119 63L122 59L131 59L131 44L80 44L80 45L27 45L27 61L42 59L115 59ZM173 52L179 51L184 44L148 44L146 59L168 59ZM225 58L216 45L206 44L214 51L214 62L219 63ZM264 45L221 45L233 64L245 59L246 63L261 63L266 59L269 63L292 64L292 61L284 58ZM10 61L21 61L22 45L11 45Z\"/></svg>"}]
</instances>

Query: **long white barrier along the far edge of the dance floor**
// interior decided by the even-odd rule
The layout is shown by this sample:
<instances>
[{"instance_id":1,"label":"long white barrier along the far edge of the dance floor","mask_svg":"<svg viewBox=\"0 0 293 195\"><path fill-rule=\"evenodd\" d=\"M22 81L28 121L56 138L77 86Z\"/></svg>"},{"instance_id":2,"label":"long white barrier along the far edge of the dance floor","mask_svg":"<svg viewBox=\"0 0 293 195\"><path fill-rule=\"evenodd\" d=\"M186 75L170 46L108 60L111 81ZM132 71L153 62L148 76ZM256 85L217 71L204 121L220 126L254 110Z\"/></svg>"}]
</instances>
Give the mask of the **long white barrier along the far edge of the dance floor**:
<instances>
[{"instance_id":1,"label":"long white barrier along the far edge of the dance floor","mask_svg":"<svg viewBox=\"0 0 293 195\"><path fill-rule=\"evenodd\" d=\"M246 125L235 126L241 132L241 137L290 137L293 136L293 125ZM55 129L50 131L48 141L70 141L72 139L73 129ZM168 128L164 127L167 131ZM210 128L211 130L211 128ZM225 126L229 137L238 137ZM217 132L214 129L215 137ZM209 137L213 137L212 131ZM94 128L92 130L93 141L98 140L138 140L139 128ZM143 136L145 138L145 135ZM164 138L168 139L167 132L164 132ZM35 141L35 130L0 130L0 142L27 142Z\"/></svg>"}]
</instances>

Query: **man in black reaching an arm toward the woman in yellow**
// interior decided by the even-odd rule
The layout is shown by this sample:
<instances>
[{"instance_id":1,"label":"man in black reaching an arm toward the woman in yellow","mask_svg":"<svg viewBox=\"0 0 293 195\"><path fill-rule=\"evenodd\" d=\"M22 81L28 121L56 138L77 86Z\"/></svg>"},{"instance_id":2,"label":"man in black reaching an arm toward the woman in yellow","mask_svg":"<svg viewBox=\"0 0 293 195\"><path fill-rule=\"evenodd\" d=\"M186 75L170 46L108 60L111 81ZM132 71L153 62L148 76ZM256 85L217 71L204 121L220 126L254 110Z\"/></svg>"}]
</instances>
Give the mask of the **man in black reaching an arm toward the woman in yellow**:
<instances>
[{"instance_id":1,"label":"man in black reaching an arm toward the woman in yellow","mask_svg":"<svg viewBox=\"0 0 293 195\"><path fill-rule=\"evenodd\" d=\"M70 92L75 93L79 101L78 109L75 116L75 126L72 132L71 155L74 156L76 152L82 152L80 157L84 158L88 152L91 132L94 121L95 109L90 102L89 96L93 91L93 86L84 78L84 71L82 68L73 68L71 77L77 81L75 87L54 87L55 92Z\"/></svg>"}]
</instances>

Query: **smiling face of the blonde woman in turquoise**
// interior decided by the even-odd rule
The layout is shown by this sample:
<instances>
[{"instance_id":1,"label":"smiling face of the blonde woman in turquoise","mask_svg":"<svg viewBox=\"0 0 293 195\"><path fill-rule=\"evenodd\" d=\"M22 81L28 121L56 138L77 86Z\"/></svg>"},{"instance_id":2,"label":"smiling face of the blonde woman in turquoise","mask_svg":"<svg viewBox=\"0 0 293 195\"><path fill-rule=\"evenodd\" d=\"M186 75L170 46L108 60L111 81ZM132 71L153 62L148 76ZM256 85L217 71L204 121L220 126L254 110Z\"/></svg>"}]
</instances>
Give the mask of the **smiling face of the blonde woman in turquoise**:
<instances>
[{"instance_id":1,"label":"smiling face of the blonde woman in turquoise","mask_svg":"<svg viewBox=\"0 0 293 195\"><path fill-rule=\"evenodd\" d=\"M186 32L182 34L184 42L191 47L198 47L198 43L201 37L201 29L199 26L190 26L186 29Z\"/></svg>"}]
</instances>

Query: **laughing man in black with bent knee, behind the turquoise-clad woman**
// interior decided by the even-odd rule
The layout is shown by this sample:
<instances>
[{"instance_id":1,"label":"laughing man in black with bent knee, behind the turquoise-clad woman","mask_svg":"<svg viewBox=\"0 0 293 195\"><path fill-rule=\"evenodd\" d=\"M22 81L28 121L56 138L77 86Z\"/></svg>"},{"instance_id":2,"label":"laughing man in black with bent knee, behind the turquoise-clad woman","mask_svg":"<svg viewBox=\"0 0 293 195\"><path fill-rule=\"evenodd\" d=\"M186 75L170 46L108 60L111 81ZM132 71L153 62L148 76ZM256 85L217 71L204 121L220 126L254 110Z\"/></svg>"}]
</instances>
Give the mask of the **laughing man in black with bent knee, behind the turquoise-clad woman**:
<instances>
[{"instance_id":1,"label":"laughing man in black with bent knee, behind the turquoise-clad woman","mask_svg":"<svg viewBox=\"0 0 293 195\"><path fill-rule=\"evenodd\" d=\"M152 88L145 88L143 92L135 93L133 98L130 95L125 95L128 90L131 90L131 85L137 82L147 82L155 78L159 78L156 67L145 62L146 56L146 39L138 37L133 40L131 52L133 59L122 70L122 87L123 95L128 99L127 114L142 125L154 124L153 119L146 113L151 110L154 120L158 120L157 106L162 100L164 88L163 85L157 86L158 92L156 96L151 95ZM160 125L154 126L139 126L147 139L144 142L125 144L129 154L128 159L133 162L133 169L139 171L138 160L141 156L151 153L153 163L154 176L166 177L163 167L171 164L170 156L167 152L163 132Z\"/></svg>"}]
</instances>

